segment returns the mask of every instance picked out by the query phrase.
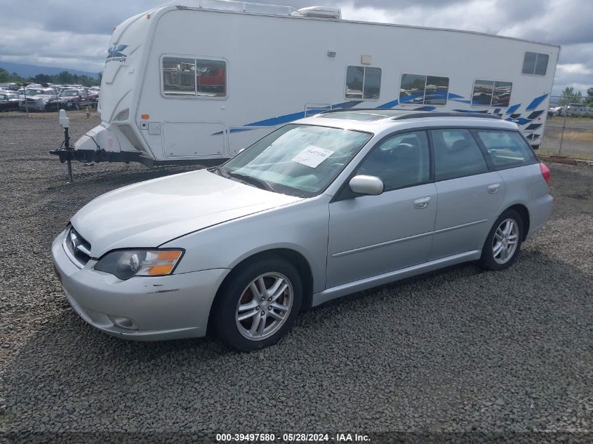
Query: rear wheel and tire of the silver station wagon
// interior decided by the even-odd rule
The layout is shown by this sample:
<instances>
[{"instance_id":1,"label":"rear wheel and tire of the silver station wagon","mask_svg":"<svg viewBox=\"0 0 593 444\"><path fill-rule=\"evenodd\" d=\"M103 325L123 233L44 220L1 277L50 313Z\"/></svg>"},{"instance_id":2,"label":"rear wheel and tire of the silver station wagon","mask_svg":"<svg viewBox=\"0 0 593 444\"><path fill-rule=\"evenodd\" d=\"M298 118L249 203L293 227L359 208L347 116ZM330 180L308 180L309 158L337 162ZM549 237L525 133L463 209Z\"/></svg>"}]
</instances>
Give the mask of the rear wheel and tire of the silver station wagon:
<instances>
[{"instance_id":1,"label":"rear wheel and tire of the silver station wagon","mask_svg":"<svg viewBox=\"0 0 593 444\"><path fill-rule=\"evenodd\" d=\"M508 230L510 230L508 233L505 232ZM509 268L517 260L522 240L523 220L521 215L515 210L506 210L494 222L488 233L484 248L482 248L480 266L490 271ZM513 241L514 243L512 243Z\"/></svg>"}]
</instances>

